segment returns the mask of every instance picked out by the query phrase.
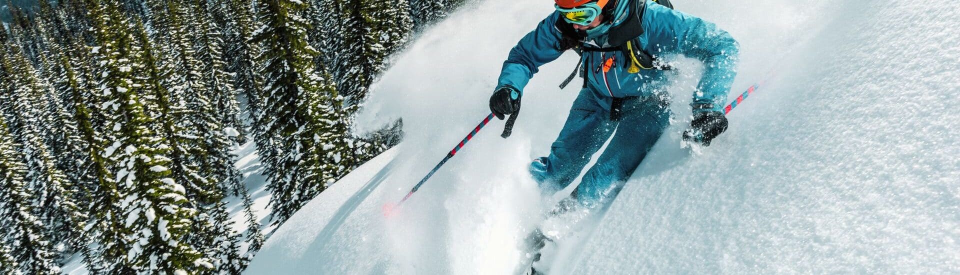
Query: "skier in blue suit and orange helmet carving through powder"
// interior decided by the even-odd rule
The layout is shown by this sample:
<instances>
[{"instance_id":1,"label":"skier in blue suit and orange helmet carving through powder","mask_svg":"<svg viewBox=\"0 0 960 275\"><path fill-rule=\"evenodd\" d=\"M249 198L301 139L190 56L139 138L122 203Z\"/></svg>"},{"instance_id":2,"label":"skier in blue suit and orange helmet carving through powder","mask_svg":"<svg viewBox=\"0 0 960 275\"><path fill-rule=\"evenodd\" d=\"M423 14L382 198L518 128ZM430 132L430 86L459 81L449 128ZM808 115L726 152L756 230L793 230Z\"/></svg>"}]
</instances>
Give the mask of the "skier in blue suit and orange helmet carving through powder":
<instances>
[{"instance_id":1,"label":"skier in blue suit and orange helmet carving through powder","mask_svg":"<svg viewBox=\"0 0 960 275\"><path fill-rule=\"evenodd\" d=\"M609 202L663 134L671 112L664 90L671 69L664 57L679 54L704 63L693 90L687 142L709 145L726 131L722 112L737 62L738 44L713 23L672 10L668 0L555 0L556 12L521 38L503 63L490 109L499 119L520 111L523 87L538 67L573 49L574 73L584 86L550 155L530 163L544 194L566 188L611 135L567 202L592 209ZM561 85L563 88L573 78ZM508 125L512 121L508 121ZM509 128L509 126L508 126ZM615 130L615 131L614 131Z\"/></svg>"}]
</instances>

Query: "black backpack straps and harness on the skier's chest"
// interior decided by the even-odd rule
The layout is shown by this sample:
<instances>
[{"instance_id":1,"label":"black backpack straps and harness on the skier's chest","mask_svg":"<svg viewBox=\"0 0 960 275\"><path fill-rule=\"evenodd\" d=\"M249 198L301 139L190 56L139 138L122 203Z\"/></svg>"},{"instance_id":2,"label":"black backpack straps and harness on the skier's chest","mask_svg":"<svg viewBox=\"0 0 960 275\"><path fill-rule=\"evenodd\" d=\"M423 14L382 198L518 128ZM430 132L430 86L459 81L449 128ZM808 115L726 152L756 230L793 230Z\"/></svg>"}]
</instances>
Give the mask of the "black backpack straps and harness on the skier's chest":
<instances>
[{"instance_id":1,"label":"black backpack straps and harness on the skier's chest","mask_svg":"<svg viewBox=\"0 0 960 275\"><path fill-rule=\"evenodd\" d=\"M649 53L641 49L639 41L637 38L643 34L643 13L646 12L646 0L618 0L618 1L628 1L626 3L626 8L630 10L628 18L626 18L622 23L611 27L608 36L608 44L612 45L605 48L590 47L585 44L583 40L583 35L580 32L577 32L573 29L573 25L564 21L563 19L557 20L555 27L557 30L560 30L561 33L561 42L558 50L565 51L573 49L577 52L577 55L583 55L583 52L616 52L622 51L625 57L630 57L632 63L631 67L628 69L630 73L637 73L639 69L671 69L668 65L662 65L655 63L656 60ZM664 7L673 9L673 4L670 3L670 0L654 0L655 3L660 4ZM619 4L619 3L617 3ZM612 16L614 10L619 5L610 5L607 8L604 8L605 16ZM583 59L577 63L577 66L574 68L573 72L570 73L570 76L566 77L564 82L560 85L560 88L566 87L570 81L577 76L578 72L581 78L584 77L584 68L581 66L583 64ZM584 87L587 87L586 78L584 79Z\"/></svg>"}]
</instances>

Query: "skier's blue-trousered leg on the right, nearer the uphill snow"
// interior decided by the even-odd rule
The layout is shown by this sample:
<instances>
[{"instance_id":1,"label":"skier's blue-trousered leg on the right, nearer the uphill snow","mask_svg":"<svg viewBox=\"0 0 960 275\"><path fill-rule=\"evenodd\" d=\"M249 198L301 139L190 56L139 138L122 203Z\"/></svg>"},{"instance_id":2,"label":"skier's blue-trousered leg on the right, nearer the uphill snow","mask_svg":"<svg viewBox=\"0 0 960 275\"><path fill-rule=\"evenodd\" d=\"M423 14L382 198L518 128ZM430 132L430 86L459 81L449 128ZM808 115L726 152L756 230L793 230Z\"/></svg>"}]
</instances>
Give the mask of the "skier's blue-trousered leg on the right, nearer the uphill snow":
<instances>
[{"instance_id":1,"label":"skier's blue-trousered leg on the right, nearer the uphill snow","mask_svg":"<svg viewBox=\"0 0 960 275\"><path fill-rule=\"evenodd\" d=\"M623 107L616 134L574 191L581 205L593 207L615 197L669 124L668 104L660 99L628 100Z\"/></svg>"}]
</instances>

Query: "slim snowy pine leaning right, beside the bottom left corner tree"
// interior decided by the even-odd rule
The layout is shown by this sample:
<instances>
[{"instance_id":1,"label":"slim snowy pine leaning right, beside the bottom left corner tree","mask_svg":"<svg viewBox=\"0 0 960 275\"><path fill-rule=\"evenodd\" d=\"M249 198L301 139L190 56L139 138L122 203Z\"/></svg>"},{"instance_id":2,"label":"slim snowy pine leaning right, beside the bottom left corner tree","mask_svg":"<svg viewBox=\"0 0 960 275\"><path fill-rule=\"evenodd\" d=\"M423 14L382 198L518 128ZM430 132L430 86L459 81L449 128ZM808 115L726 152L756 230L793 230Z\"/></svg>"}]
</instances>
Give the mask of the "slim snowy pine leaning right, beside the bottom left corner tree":
<instances>
[{"instance_id":1,"label":"slim snowy pine leaning right, beside the bottom left corner tree","mask_svg":"<svg viewBox=\"0 0 960 275\"><path fill-rule=\"evenodd\" d=\"M46 133L53 124L45 113L48 110L44 94L52 88L43 79L37 77L36 69L27 62L19 43L5 47L7 55L3 66L10 74L8 92L13 94L13 112L11 121L15 123L14 140L22 146L28 168L27 188L34 192L35 215L44 226L44 236L57 245L59 252L70 251L68 245L79 244L84 236L83 226L86 215L75 203L70 182L58 167L50 147L47 146ZM58 255L59 256L59 255Z\"/></svg>"}]
</instances>

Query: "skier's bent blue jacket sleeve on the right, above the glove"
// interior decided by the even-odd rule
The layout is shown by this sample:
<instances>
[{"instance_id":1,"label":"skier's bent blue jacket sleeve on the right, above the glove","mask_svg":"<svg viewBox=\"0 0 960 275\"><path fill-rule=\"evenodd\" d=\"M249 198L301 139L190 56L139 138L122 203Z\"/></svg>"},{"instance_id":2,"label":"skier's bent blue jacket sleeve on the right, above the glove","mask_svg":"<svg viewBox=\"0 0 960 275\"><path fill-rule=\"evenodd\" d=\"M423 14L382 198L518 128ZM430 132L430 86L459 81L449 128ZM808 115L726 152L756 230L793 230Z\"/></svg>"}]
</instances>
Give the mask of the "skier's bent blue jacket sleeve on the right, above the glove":
<instances>
[{"instance_id":1,"label":"skier's bent blue jacket sleeve on the right, above the glove","mask_svg":"<svg viewBox=\"0 0 960 275\"><path fill-rule=\"evenodd\" d=\"M651 26L651 41L660 41L664 51L676 51L704 62L704 76L693 92L693 112L723 112L727 92L736 76L739 44L713 23L647 1L643 16Z\"/></svg>"}]
</instances>

